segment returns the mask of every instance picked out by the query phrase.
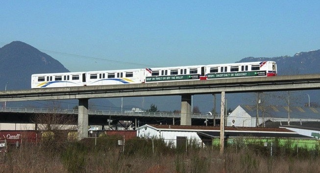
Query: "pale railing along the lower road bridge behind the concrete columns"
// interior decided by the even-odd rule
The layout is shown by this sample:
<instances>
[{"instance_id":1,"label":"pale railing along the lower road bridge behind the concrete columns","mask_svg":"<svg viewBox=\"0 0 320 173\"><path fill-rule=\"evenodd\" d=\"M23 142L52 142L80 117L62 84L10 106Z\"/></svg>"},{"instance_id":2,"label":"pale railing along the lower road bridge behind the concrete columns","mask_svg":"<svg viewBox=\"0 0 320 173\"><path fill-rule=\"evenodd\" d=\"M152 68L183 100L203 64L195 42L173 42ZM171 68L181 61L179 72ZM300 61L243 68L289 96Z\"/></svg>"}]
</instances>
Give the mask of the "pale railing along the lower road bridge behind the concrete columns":
<instances>
[{"instance_id":1,"label":"pale railing along the lower road bridge behind the concrete columns","mask_svg":"<svg viewBox=\"0 0 320 173\"><path fill-rule=\"evenodd\" d=\"M0 112L11 113L57 113L57 114L78 114L76 109L54 109L54 108L0 108ZM112 111L112 110L88 110L89 115L101 116L147 116L147 117L170 117L180 118L180 113L172 112L135 112L135 111ZM191 118L213 119L213 115L192 114ZM220 115L216 115L216 119L220 119Z\"/></svg>"}]
</instances>

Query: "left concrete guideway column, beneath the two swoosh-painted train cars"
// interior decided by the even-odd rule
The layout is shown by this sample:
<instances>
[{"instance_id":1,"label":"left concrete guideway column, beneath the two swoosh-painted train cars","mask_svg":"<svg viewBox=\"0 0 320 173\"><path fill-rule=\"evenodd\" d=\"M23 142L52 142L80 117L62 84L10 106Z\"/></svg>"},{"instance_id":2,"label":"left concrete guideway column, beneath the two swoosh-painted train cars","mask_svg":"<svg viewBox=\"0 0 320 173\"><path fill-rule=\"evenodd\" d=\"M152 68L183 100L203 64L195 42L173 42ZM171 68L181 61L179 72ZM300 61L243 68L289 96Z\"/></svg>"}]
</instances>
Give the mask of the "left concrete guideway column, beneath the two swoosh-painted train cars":
<instances>
[{"instance_id":1,"label":"left concrete guideway column, beneath the two swoosh-painted train cars","mask_svg":"<svg viewBox=\"0 0 320 173\"><path fill-rule=\"evenodd\" d=\"M79 99L78 140L88 137L88 100L89 99Z\"/></svg>"}]
</instances>

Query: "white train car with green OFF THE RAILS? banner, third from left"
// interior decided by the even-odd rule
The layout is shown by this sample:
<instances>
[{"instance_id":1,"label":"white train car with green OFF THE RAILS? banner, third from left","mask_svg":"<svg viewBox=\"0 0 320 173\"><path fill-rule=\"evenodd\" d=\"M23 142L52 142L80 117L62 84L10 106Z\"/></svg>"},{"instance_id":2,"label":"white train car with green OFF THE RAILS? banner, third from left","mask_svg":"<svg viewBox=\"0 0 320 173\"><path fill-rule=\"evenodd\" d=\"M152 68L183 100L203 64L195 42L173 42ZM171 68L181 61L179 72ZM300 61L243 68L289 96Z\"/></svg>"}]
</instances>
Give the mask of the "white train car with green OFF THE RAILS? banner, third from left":
<instances>
[{"instance_id":1,"label":"white train car with green OFF THE RAILS? banner, third from left","mask_svg":"<svg viewBox=\"0 0 320 173\"><path fill-rule=\"evenodd\" d=\"M146 68L146 83L202 80L205 65Z\"/></svg>"}]
</instances>

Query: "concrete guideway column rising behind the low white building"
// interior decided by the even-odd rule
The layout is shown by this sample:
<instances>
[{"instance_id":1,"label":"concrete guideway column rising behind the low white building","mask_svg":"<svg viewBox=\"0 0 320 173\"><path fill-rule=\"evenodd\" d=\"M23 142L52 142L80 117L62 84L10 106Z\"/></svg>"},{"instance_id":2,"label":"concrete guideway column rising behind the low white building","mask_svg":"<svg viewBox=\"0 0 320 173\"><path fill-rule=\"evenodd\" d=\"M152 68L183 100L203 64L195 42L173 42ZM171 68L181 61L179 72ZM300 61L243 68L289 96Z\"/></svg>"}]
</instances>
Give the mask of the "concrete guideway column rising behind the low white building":
<instances>
[{"instance_id":1,"label":"concrete guideway column rising behind the low white building","mask_svg":"<svg viewBox=\"0 0 320 173\"><path fill-rule=\"evenodd\" d=\"M191 126L191 94L181 95L180 125Z\"/></svg>"}]
</instances>

